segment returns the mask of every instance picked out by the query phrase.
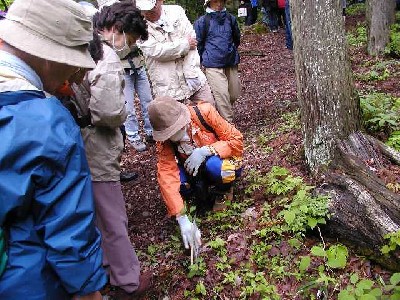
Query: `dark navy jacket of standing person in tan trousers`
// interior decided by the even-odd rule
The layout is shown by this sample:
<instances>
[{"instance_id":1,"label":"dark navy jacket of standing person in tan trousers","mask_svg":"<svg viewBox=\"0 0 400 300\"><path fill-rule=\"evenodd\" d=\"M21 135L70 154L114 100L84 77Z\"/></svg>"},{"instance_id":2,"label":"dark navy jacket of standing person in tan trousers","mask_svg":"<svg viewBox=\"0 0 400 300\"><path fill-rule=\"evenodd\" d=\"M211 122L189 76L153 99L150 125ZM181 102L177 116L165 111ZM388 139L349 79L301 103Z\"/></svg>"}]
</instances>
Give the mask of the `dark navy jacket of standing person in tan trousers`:
<instances>
[{"instance_id":1,"label":"dark navy jacket of standing person in tan trousers","mask_svg":"<svg viewBox=\"0 0 400 300\"><path fill-rule=\"evenodd\" d=\"M209 18L208 30L206 18ZM240 45L240 30L233 15L226 10L207 12L196 20L194 30L197 50L204 67L225 68L239 64L237 49Z\"/></svg>"}]
</instances>

